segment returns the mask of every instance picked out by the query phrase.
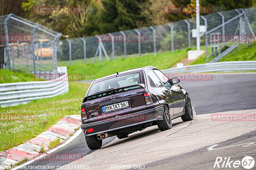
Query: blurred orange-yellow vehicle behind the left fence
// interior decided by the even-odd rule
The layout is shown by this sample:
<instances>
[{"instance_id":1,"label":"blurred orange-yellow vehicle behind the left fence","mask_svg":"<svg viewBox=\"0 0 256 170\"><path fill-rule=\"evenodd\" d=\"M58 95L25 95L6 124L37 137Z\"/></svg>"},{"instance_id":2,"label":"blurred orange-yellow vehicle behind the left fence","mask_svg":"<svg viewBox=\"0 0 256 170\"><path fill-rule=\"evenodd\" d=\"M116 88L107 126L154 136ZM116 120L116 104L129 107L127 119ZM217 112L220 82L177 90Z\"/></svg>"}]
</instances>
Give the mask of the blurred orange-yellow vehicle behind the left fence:
<instances>
[{"instance_id":1,"label":"blurred orange-yellow vehicle behind the left fence","mask_svg":"<svg viewBox=\"0 0 256 170\"><path fill-rule=\"evenodd\" d=\"M42 59L52 58L52 49L48 45L49 39L38 39L38 48L35 50L35 55L39 59L42 54ZM42 52L41 52L42 51Z\"/></svg>"}]
</instances>

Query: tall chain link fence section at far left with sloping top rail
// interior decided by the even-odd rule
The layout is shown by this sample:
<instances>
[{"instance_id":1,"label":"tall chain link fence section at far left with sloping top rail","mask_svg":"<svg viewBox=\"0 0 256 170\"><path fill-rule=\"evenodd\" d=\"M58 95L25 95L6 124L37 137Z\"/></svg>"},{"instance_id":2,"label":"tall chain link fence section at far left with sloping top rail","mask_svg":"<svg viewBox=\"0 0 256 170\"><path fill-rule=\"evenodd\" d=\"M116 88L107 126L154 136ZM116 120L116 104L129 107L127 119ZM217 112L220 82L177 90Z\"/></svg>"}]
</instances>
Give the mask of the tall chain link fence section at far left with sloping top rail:
<instances>
[{"instance_id":1,"label":"tall chain link fence section at far left with sloping top rail","mask_svg":"<svg viewBox=\"0 0 256 170\"><path fill-rule=\"evenodd\" d=\"M56 43L61 35L13 14L1 16L1 68L32 73L57 70Z\"/></svg>"}]
</instances>

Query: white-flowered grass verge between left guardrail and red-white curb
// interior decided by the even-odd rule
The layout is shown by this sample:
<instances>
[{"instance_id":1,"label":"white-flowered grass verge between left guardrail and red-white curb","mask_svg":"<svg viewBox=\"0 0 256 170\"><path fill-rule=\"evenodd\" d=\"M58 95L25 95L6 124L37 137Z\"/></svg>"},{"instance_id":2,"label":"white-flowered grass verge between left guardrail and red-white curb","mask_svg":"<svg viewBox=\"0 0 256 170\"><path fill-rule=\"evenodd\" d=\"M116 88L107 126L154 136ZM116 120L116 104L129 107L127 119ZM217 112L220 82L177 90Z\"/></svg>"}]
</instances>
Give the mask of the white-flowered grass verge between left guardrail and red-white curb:
<instances>
[{"instance_id":1,"label":"white-flowered grass verge between left guardrail and red-white curb","mask_svg":"<svg viewBox=\"0 0 256 170\"><path fill-rule=\"evenodd\" d=\"M66 115L79 114L88 87L70 82L64 95L0 108L0 152L35 138Z\"/></svg>"}]
</instances>

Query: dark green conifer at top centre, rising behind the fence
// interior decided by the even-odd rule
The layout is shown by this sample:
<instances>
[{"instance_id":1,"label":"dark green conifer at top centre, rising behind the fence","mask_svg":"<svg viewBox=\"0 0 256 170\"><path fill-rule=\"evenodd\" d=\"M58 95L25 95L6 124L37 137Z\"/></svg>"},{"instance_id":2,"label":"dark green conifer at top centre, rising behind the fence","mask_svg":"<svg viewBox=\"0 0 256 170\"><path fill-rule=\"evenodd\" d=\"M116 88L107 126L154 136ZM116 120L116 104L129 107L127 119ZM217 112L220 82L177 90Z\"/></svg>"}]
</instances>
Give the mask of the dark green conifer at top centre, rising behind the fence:
<instances>
[{"instance_id":1,"label":"dark green conifer at top centre, rising behind the fence","mask_svg":"<svg viewBox=\"0 0 256 170\"><path fill-rule=\"evenodd\" d=\"M149 0L102 0L102 32L115 32L148 26ZM147 11L147 12L146 12Z\"/></svg>"}]
</instances>

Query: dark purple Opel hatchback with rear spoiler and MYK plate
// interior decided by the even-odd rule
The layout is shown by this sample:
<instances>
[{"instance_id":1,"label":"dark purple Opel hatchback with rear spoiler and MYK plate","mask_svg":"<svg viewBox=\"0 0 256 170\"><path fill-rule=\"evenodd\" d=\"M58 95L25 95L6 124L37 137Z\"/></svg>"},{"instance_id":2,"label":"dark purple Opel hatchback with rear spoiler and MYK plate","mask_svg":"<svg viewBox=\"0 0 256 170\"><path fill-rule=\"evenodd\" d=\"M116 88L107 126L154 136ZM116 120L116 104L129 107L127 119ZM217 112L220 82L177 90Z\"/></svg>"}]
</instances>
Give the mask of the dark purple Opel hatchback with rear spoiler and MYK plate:
<instances>
[{"instance_id":1,"label":"dark purple Opel hatchback with rear spoiler and MYK plate","mask_svg":"<svg viewBox=\"0 0 256 170\"><path fill-rule=\"evenodd\" d=\"M157 125L172 128L172 119L193 120L188 93L153 66L111 74L92 82L82 106L81 128L91 150L102 139L126 138L130 133Z\"/></svg>"}]
</instances>

